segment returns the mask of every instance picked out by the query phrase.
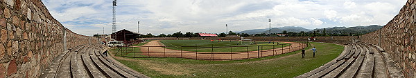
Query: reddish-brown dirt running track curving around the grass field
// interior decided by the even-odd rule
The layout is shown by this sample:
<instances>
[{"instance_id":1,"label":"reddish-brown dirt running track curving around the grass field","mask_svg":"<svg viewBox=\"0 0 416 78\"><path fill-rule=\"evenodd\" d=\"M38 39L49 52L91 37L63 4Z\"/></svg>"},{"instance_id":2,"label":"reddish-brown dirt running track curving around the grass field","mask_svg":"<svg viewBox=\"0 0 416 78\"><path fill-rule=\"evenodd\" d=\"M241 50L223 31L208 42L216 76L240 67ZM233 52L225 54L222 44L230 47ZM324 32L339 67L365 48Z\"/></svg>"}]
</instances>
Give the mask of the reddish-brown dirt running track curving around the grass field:
<instances>
[{"instance_id":1,"label":"reddish-brown dirt running track curving around the grass field","mask_svg":"<svg viewBox=\"0 0 416 78\"><path fill-rule=\"evenodd\" d=\"M187 59L205 59L205 60L235 60L235 59L251 59L258 57L267 57L272 55L280 55L282 53L293 52L295 50L301 50L306 48L305 43L294 42L280 42L280 43L293 43L291 46L283 48L275 48L274 50L260 50L250 52L189 52L181 50L171 50L163 48L164 45L159 41L150 41L143 46L140 46L141 55L150 57L178 57Z\"/></svg>"}]
</instances>

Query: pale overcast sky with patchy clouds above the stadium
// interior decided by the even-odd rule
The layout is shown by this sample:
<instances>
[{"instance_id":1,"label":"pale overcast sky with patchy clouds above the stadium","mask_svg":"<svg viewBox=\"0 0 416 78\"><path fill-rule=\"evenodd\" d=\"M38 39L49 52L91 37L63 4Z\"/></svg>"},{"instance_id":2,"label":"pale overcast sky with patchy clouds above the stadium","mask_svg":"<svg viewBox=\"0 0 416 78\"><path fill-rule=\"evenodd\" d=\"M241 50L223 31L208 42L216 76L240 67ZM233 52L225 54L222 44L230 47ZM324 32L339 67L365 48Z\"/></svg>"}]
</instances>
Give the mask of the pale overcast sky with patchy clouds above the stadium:
<instances>
[{"instance_id":1,"label":"pale overcast sky with patchy clouds above the stadium","mask_svg":"<svg viewBox=\"0 0 416 78\"><path fill-rule=\"evenodd\" d=\"M81 35L112 32L112 0L42 0L55 19ZM385 25L406 0L118 0L117 30L159 35L300 26Z\"/></svg>"}]
</instances>

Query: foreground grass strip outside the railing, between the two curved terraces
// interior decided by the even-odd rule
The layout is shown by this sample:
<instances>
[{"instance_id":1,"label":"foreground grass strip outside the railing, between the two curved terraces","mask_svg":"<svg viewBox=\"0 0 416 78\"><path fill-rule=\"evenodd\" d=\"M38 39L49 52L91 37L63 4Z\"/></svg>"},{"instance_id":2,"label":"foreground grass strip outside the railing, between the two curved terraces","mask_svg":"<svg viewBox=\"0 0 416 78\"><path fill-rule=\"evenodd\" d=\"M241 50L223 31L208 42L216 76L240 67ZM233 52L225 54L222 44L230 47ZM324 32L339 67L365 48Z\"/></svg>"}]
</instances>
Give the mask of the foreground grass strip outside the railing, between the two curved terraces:
<instances>
[{"instance_id":1,"label":"foreground grass strip outside the railing, between the two curved terraces","mask_svg":"<svg viewBox=\"0 0 416 78\"><path fill-rule=\"evenodd\" d=\"M148 77L296 77L338 57L343 46L331 43L311 43L318 50L312 57L306 50L283 55L235 61L205 61L182 58L128 58L116 59ZM309 49L309 48L308 48ZM128 59L128 60L126 60Z\"/></svg>"}]
</instances>

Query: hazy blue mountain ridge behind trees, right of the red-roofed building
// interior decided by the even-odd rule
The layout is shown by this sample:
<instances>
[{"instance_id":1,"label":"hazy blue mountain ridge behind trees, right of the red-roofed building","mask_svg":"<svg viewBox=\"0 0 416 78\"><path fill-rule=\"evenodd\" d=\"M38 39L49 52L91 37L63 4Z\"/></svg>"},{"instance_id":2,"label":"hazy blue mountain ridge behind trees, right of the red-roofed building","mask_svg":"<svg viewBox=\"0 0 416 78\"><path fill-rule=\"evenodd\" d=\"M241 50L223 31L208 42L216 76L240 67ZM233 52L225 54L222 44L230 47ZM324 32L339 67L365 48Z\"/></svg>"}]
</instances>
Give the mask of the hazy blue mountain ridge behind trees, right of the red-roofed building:
<instances>
[{"instance_id":1,"label":"hazy blue mountain ridge behind trees, right of the red-roofed building","mask_svg":"<svg viewBox=\"0 0 416 78\"><path fill-rule=\"evenodd\" d=\"M252 35L252 34L268 33L268 30L269 30L269 28L244 30L244 31L241 31L239 33L248 33L248 34ZM311 31L309 29L302 28L302 27L285 26L285 27L281 27L281 28L272 28L272 29L270 29L270 32L271 33L280 33L280 32L283 32L284 30L286 30L288 32L301 32L301 31L307 32L307 31Z\"/></svg>"}]
</instances>

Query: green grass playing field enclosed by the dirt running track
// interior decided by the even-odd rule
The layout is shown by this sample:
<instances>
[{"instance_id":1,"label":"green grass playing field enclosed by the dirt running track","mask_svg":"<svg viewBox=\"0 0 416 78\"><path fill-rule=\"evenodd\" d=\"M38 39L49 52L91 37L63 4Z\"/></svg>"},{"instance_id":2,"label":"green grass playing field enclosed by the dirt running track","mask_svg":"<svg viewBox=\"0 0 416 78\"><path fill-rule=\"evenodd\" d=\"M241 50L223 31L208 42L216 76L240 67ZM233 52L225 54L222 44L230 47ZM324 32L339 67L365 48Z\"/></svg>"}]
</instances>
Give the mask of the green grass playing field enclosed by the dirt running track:
<instances>
[{"instance_id":1,"label":"green grass playing field enclosed by the dirt running track","mask_svg":"<svg viewBox=\"0 0 416 78\"><path fill-rule=\"evenodd\" d=\"M252 41L244 41L242 44L237 45L239 41L208 41L208 40L162 40L160 41L168 49L173 50L185 50L185 51L193 51L193 52L246 52L246 51L255 51L261 50L270 50L272 48L281 48L285 46L289 46L289 43L279 43L282 45L278 45L277 42L275 44L264 42L264 41L256 41L256 44L250 44ZM182 46L182 47L180 47ZM241 47L243 46L243 47ZM257 48L259 46L259 48ZM201 47L221 47L221 48L201 48Z\"/></svg>"}]
</instances>

